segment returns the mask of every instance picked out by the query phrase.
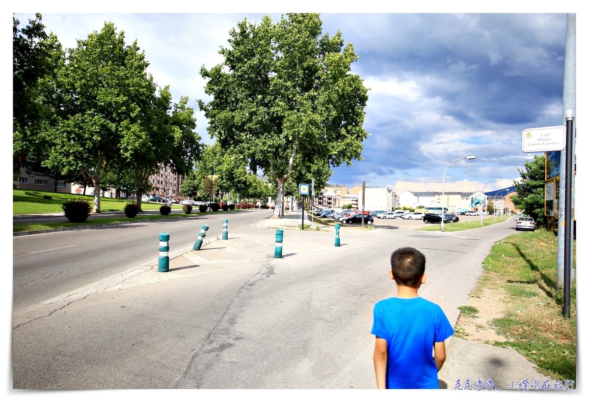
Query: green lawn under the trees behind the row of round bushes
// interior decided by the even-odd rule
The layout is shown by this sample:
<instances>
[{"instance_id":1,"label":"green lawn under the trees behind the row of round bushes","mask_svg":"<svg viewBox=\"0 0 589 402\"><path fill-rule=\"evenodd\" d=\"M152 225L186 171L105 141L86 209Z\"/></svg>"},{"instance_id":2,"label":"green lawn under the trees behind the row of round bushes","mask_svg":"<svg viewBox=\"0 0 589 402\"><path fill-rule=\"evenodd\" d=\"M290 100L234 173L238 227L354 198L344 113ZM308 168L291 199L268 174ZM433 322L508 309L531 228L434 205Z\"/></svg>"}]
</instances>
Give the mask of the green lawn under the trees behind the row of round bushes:
<instances>
[{"instance_id":1,"label":"green lawn under the trees behind the row of round bushes","mask_svg":"<svg viewBox=\"0 0 589 402\"><path fill-rule=\"evenodd\" d=\"M29 193L29 194L25 194ZM35 197L30 194L41 195L41 197ZM48 195L52 197L51 200L44 199L42 196ZM61 204L71 198L82 198L90 201L90 204L94 203L94 197L82 196L77 194L67 193L54 193L48 191L36 191L36 190L12 190L12 214L13 215L24 215L28 213L54 213L62 212ZM100 198L100 209L104 212L122 211L125 204L130 200L117 200L112 198ZM157 202L142 202L141 209L144 211L158 210L163 204ZM173 204L172 209L182 209L181 205Z\"/></svg>"}]
</instances>

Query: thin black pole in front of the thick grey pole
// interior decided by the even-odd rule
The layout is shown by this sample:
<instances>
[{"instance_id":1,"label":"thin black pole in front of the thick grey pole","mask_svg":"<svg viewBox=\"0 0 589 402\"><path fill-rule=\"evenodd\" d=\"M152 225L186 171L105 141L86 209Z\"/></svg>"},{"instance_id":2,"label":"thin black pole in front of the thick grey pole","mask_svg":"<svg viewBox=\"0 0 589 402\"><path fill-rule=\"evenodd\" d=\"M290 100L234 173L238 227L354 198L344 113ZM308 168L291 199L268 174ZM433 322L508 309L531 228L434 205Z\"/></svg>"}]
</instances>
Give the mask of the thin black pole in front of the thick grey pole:
<instances>
[{"instance_id":1,"label":"thin black pole in front of the thick grey pole","mask_svg":"<svg viewBox=\"0 0 589 402\"><path fill-rule=\"evenodd\" d=\"M573 211L571 206L572 190L573 190L573 120L574 117L567 117L567 168L564 196L564 306L562 307L562 314L565 317L571 318L571 226L573 226Z\"/></svg>"}]
</instances>

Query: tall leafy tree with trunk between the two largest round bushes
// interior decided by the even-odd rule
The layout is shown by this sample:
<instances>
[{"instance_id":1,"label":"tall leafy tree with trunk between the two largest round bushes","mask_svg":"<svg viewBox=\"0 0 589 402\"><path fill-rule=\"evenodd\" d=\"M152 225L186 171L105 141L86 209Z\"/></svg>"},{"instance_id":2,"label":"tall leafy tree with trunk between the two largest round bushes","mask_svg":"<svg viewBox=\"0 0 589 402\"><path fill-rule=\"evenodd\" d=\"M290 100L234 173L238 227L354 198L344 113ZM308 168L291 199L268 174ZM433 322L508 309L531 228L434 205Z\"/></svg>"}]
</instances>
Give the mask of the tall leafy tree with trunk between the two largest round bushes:
<instances>
[{"instance_id":1,"label":"tall leafy tree with trunk between the two largest round bushes","mask_svg":"<svg viewBox=\"0 0 589 402\"><path fill-rule=\"evenodd\" d=\"M112 22L68 50L57 81L61 104L47 131L53 146L45 165L61 167L64 174L91 172L85 179L94 184L94 212L100 212L102 170L120 163L125 137L137 134L155 102L156 85L147 66L137 41L125 45L124 32L117 34Z\"/></svg>"}]
</instances>

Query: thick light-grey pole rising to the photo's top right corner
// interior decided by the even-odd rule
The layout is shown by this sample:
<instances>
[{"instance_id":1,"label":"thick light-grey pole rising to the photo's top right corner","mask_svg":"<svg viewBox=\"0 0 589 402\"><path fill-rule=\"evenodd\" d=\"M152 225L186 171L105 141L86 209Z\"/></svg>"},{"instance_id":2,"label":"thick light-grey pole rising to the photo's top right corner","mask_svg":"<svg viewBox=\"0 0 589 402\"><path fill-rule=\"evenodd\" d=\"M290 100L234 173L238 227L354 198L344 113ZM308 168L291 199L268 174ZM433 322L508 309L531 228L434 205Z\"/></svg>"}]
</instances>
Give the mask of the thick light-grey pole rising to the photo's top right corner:
<instances>
[{"instance_id":1,"label":"thick light-grey pole rising to the photo's top right corner","mask_svg":"<svg viewBox=\"0 0 589 402\"><path fill-rule=\"evenodd\" d=\"M574 13L567 14L567 39L565 42L564 51L564 85L562 88L562 126L568 127L567 117L577 116L577 15ZM574 157L574 130L576 123L573 120L573 144L571 151L573 151ZM568 133L567 133L568 134ZM568 140L568 139L567 139ZM567 150L569 144L567 142ZM556 268L556 281L557 286L564 284L564 241L565 232L569 231L572 233L573 225L565 226L565 200L563 195L566 192L565 181L567 180L566 173L567 156L564 150L560 151L560 183L558 184L558 193L560 194L558 200L558 243L557 243L557 268ZM574 172L573 172L574 174ZM571 189L574 187L575 178L571 177ZM574 192L571 192L571 206L574 206ZM571 242L571 247L573 243ZM571 255L573 252L571 250Z\"/></svg>"}]
</instances>

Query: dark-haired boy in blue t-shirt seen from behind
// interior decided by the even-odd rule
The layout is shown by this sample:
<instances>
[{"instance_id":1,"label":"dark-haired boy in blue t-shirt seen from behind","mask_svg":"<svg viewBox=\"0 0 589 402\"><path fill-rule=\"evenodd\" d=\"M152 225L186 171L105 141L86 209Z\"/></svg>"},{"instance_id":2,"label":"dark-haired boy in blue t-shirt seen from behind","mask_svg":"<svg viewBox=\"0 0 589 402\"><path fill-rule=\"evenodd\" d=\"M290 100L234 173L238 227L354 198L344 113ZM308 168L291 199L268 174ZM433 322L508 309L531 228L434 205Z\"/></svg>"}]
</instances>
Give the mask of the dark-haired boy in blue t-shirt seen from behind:
<instances>
[{"instance_id":1,"label":"dark-haired boy in blue t-shirt seen from behind","mask_svg":"<svg viewBox=\"0 0 589 402\"><path fill-rule=\"evenodd\" d=\"M428 277L424 272L425 256L416 249L392 253L389 278L395 280L398 292L376 303L372 325L379 389L439 388L438 371L446 360L444 340L454 329L437 304L417 295Z\"/></svg>"}]
</instances>

